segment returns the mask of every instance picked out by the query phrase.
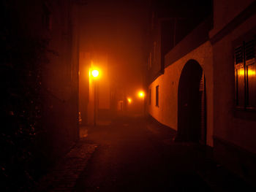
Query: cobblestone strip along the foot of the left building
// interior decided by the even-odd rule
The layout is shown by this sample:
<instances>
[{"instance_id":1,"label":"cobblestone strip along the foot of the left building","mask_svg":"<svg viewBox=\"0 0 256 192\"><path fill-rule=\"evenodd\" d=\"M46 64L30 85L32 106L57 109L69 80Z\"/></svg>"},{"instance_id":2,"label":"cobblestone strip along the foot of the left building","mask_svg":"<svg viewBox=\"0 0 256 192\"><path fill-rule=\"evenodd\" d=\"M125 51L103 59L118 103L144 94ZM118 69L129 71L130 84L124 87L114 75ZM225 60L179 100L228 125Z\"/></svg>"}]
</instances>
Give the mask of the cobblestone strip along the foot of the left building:
<instances>
[{"instance_id":1,"label":"cobblestone strip along the foot of the left building","mask_svg":"<svg viewBox=\"0 0 256 192\"><path fill-rule=\"evenodd\" d=\"M39 181L34 191L72 191L96 148L97 145L80 139L59 164Z\"/></svg>"}]
</instances>

